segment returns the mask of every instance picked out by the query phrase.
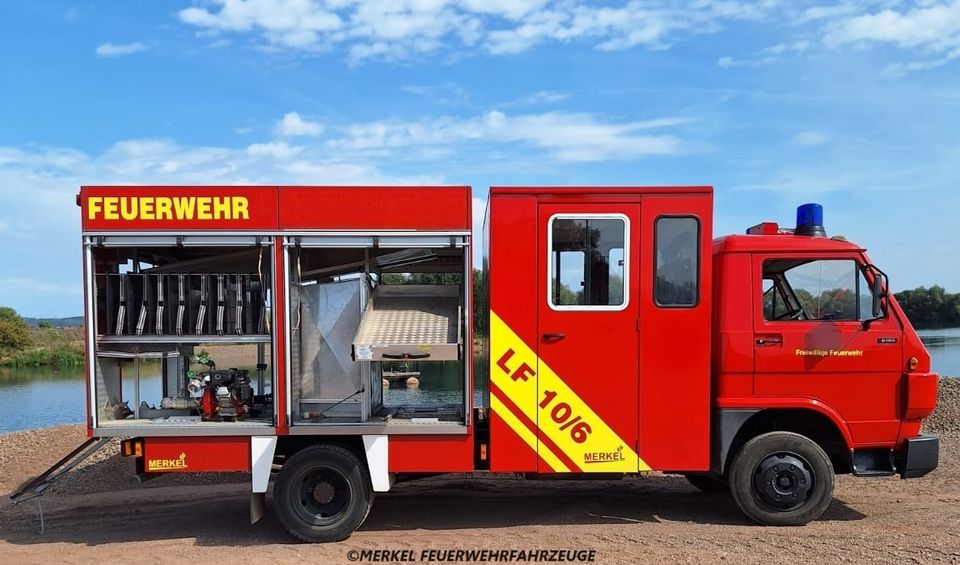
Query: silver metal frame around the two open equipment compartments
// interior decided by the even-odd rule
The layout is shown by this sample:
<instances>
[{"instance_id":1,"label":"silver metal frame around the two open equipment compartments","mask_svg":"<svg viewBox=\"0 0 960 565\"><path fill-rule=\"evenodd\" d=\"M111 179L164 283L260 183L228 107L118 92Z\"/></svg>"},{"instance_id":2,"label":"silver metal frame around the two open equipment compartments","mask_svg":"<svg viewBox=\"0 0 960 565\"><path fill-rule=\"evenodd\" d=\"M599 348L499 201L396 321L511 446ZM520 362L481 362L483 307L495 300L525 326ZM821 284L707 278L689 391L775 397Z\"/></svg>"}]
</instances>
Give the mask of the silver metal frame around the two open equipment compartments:
<instances>
[{"instance_id":1,"label":"silver metal frame around the two open equipment compartments","mask_svg":"<svg viewBox=\"0 0 960 565\"><path fill-rule=\"evenodd\" d=\"M472 288L472 262L471 262L471 232L470 231L419 231L419 230L392 230L392 231L370 231L370 230L298 230L298 231L257 231L256 233L243 231L229 231L211 234L210 232L183 232L180 234L171 234L170 232L102 232L102 231L84 231L84 258L85 258L85 293L87 296L85 315L87 328L87 350L90 352L91 359L87 370L87 388L90 395L90 427L95 437L125 437L125 436L143 436L143 437L163 437L163 436L256 436L256 435L276 435L277 422L273 425L245 424L241 426L232 425L231 422L202 422L196 425L185 426L150 426L150 425L129 425L129 426L101 426L97 417L96 407L96 352L101 344L157 344L157 343L231 343L231 344L249 344L249 343L267 343L271 344L272 363L271 373L271 392L274 394L274 417L279 418L281 414L277 412L279 408L279 399L277 392L281 389L278 386L281 378L285 379L287 386L284 388L285 414L286 422L289 426L289 433L292 435L353 435L353 434L397 434L397 435L420 435L420 434L451 434L465 435L469 433L471 423L471 409L473 390L471 387L471 378L473 375L472 349L463 355L464 372L464 423L431 423L431 424L413 424L393 422L385 425L381 423L360 422L357 424L307 424L294 423L292 419L293 397L292 397L292 373L291 367L291 348L288 346L282 352L285 363L285 374L281 375L278 370L277 361L281 352L278 350L279 340L277 339L277 322L280 316L283 316L284 333L287 340L291 339L292 326L290 324L290 308L287 304L283 312L278 312L276 304L276 289L278 285L284 285L286 289L290 284L290 247L295 246L297 238L307 238L299 241L301 247L315 248L337 248L337 247L383 247L383 248L445 248L456 247L463 250L464 257L464 308L465 314L462 323L464 324L464 335L472 337L472 319L473 314L473 295L468 290ZM271 300L271 318L272 331L269 336L208 336L198 338L197 336L140 336L140 337L117 337L102 336L98 338L96 322L96 273L94 273L93 251L96 247L243 247L260 245L273 249L278 242L275 237L282 237L282 272L283 280L272 280L270 294ZM271 264L275 254L271 255ZM276 265L273 265L273 273L276 272ZM464 343L464 347L473 347L470 343ZM369 380L369 364L366 368L366 380ZM368 392L368 391L365 391ZM363 404L369 408L369 400L364 394Z\"/></svg>"}]
</instances>

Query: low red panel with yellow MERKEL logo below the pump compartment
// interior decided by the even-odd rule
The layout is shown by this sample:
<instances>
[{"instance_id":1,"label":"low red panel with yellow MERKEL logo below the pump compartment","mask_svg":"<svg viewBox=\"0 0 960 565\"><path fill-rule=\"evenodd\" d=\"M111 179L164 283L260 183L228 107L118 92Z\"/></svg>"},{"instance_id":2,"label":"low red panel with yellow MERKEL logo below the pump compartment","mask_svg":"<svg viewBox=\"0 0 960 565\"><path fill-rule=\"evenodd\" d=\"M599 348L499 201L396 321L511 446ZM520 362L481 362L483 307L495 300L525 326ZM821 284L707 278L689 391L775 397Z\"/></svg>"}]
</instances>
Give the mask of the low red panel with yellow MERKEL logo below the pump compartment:
<instances>
[{"instance_id":1,"label":"low red panel with yellow MERKEL logo below the pump compartment","mask_svg":"<svg viewBox=\"0 0 960 565\"><path fill-rule=\"evenodd\" d=\"M249 437L151 437L143 439L148 473L249 471Z\"/></svg>"}]
</instances>

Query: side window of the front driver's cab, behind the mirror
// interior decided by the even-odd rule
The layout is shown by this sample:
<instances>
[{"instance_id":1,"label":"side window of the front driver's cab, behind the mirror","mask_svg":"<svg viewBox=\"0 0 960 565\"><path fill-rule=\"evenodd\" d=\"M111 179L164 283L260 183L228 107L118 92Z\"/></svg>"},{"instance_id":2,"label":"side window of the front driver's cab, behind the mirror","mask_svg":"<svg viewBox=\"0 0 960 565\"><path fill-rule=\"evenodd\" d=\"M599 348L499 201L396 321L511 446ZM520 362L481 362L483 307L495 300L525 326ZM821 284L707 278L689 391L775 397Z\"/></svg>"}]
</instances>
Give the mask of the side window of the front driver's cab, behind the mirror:
<instances>
[{"instance_id":1,"label":"side window of the front driver's cab, behind the mirror","mask_svg":"<svg viewBox=\"0 0 960 565\"><path fill-rule=\"evenodd\" d=\"M856 261L776 259L763 264L763 317L768 321L857 321L870 318L870 285Z\"/></svg>"}]
</instances>

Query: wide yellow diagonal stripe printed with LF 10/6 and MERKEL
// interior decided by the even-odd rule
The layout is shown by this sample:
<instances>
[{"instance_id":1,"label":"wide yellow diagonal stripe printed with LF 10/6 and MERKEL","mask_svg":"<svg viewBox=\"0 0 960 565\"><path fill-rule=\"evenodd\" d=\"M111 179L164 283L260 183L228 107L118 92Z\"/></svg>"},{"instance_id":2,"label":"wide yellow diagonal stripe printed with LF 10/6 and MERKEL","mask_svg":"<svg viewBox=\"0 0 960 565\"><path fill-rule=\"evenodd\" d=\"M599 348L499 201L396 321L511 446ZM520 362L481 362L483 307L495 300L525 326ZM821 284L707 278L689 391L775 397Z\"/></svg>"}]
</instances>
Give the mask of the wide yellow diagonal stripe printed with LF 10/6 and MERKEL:
<instances>
[{"instance_id":1,"label":"wide yellow diagonal stripe printed with LF 10/6 and MERKEL","mask_svg":"<svg viewBox=\"0 0 960 565\"><path fill-rule=\"evenodd\" d=\"M633 448L492 310L490 378L584 472L650 470ZM550 450L539 441L538 447L537 453L546 460L544 454Z\"/></svg>"}]
</instances>

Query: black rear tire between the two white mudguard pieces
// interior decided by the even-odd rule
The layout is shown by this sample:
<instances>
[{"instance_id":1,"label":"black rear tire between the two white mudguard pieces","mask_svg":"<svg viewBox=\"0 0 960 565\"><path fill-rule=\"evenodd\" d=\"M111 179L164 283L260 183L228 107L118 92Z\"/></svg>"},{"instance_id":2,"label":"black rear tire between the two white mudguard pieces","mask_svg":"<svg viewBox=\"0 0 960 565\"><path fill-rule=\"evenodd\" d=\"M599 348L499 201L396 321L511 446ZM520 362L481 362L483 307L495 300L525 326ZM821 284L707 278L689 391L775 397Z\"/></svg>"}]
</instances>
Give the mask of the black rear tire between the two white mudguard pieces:
<instances>
[{"instance_id":1,"label":"black rear tire between the two white mudguard pieces","mask_svg":"<svg viewBox=\"0 0 960 565\"><path fill-rule=\"evenodd\" d=\"M373 505L366 463L349 449L314 445L298 451L273 488L280 524L306 542L341 541L363 524Z\"/></svg>"}]
</instances>

